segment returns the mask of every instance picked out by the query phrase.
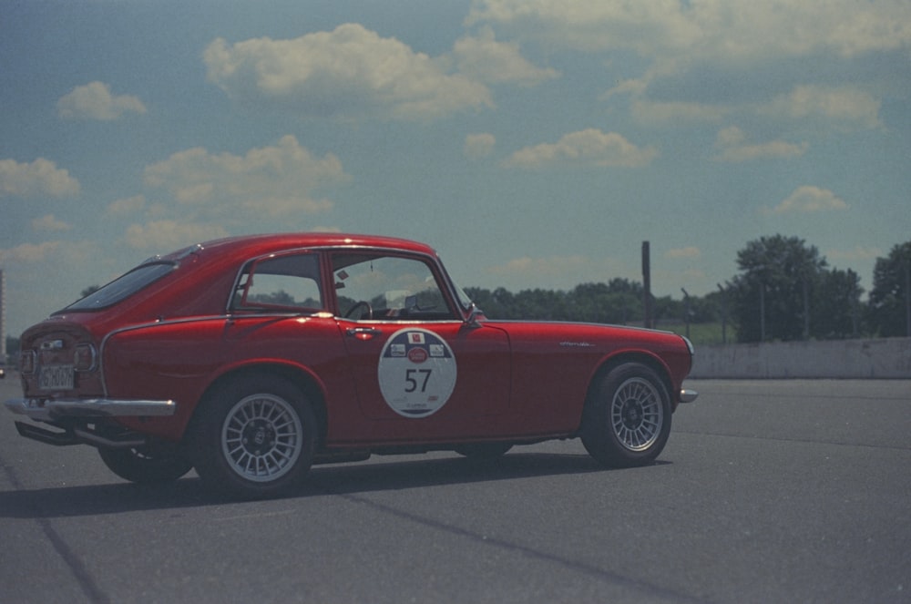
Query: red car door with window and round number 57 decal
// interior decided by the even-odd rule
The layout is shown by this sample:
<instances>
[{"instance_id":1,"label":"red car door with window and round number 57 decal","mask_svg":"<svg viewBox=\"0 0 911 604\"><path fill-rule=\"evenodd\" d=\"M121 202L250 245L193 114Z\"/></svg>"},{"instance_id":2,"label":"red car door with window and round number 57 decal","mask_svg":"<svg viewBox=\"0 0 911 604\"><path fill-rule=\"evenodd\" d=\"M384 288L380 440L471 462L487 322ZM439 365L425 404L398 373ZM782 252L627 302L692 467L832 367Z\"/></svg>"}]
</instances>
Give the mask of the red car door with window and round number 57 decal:
<instances>
[{"instance_id":1,"label":"red car door with window and round number 57 decal","mask_svg":"<svg viewBox=\"0 0 911 604\"><path fill-rule=\"evenodd\" d=\"M379 252L333 255L337 320L374 437L491 435L509 404L507 334L466 324L435 263Z\"/></svg>"}]
</instances>

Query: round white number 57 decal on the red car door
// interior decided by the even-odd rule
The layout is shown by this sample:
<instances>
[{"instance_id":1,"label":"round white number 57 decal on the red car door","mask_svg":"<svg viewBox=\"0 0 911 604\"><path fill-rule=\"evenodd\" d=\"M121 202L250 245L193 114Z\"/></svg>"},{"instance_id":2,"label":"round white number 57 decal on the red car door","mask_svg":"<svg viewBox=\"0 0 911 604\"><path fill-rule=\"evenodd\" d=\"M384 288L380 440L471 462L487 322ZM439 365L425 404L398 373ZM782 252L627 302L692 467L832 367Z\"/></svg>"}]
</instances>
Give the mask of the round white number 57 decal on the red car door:
<instances>
[{"instance_id":1,"label":"round white number 57 decal on the red car door","mask_svg":"<svg viewBox=\"0 0 911 604\"><path fill-rule=\"evenodd\" d=\"M406 327L393 333L380 354L380 392L398 415L439 411L455 388L455 354L440 336Z\"/></svg>"}]
</instances>

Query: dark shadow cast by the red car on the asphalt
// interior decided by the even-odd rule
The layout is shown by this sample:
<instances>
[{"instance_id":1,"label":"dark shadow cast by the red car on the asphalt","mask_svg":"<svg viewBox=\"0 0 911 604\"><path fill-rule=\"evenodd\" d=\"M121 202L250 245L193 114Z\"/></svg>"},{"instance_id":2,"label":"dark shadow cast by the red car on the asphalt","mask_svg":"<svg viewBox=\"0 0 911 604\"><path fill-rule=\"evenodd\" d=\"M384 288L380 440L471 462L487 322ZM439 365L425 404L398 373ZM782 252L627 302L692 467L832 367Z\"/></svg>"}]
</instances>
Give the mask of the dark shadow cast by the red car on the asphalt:
<instances>
[{"instance_id":1,"label":"dark shadow cast by the red car on the asphalt","mask_svg":"<svg viewBox=\"0 0 911 604\"><path fill-rule=\"evenodd\" d=\"M445 457L314 466L300 486L282 499L352 496L363 493L458 485L539 476L618 471L587 455L510 453L494 460ZM382 457L379 458L382 460ZM658 461L654 465L670 462ZM100 516L152 509L256 504L220 495L190 475L173 483L54 486L0 493L0 518Z\"/></svg>"}]
</instances>

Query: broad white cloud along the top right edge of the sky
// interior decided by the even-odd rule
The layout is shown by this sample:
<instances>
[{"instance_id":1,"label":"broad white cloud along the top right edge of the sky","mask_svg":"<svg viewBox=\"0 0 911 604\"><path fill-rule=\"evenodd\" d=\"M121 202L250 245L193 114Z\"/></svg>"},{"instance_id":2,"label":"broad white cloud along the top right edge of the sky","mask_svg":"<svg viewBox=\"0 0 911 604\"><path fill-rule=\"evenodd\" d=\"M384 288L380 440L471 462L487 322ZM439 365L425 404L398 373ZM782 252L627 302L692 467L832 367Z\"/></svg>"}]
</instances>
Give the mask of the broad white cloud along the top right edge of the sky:
<instances>
[{"instance_id":1,"label":"broad white cloud along the top right edge of the sky","mask_svg":"<svg viewBox=\"0 0 911 604\"><path fill-rule=\"evenodd\" d=\"M520 27L548 45L660 59L753 62L911 47L911 5L891 0L479 0L466 22Z\"/></svg>"}]
</instances>

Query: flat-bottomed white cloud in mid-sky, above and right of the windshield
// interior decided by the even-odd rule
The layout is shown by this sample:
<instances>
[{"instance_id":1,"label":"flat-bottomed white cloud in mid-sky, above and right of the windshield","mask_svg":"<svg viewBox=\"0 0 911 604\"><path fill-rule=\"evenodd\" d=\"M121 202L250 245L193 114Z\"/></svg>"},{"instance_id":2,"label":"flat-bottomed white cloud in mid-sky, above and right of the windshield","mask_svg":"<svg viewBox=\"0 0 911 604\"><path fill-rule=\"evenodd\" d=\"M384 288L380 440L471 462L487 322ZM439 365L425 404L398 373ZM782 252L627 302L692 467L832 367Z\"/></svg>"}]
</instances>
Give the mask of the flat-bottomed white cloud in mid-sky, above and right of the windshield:
<instances>
[{"instance_id":1,"label":"flat-bottomed white cloud in mid-sky, above and right of the windshield","mask_svg":"<svg viewBox=\"0 0 911 604\"><path fill-rule=\"evenodd\" d=\"M621 166L636 168L647 165L657 157L658 150L640 148L616 132L589 128L572 132L557 143L542 143L516 151L507 167L536 168L553 163L582 163L600 167Z\"/></svg>"}]
</instances>

